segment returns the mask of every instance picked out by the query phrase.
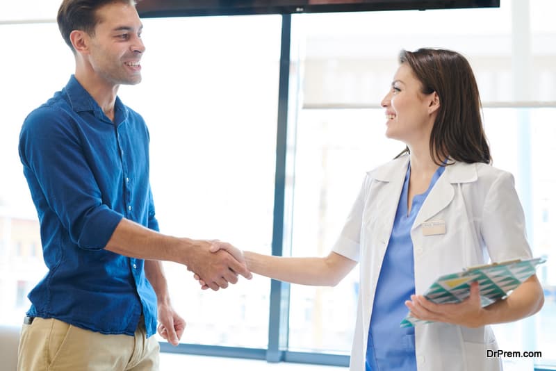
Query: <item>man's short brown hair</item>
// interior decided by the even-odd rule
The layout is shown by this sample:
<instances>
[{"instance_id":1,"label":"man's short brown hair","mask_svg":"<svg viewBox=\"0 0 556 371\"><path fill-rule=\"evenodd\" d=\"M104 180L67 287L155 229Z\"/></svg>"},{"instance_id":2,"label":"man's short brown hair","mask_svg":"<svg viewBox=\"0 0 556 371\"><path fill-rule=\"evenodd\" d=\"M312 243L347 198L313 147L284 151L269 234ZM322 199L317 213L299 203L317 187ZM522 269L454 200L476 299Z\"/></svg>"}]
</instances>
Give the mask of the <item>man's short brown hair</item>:
<instances>
[{"instance_id":1,"label":"man's short brown hair","mask_svg":"<svg viewBox=\"0 0 556 371\"><path fill-rule=\"evenodd\" d=\"M63 0L58 9L58 28L65 43L75 52L70 40L70 33L74 30L85 31L95 35L95 26L99 22L97 10L109 3L129 3L135 6L133 0Z\"/></svg>"}]
</instances>

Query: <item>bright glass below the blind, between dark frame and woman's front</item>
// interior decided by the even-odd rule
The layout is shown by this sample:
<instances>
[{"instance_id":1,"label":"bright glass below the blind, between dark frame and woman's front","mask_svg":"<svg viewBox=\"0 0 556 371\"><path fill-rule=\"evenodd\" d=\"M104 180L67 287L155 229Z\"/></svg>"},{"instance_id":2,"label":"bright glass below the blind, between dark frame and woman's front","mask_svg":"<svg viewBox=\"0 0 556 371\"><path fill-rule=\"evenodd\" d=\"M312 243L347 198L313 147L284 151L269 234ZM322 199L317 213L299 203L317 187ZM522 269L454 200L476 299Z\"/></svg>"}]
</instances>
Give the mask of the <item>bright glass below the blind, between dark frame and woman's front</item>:
<instances>
[{"instance_id":1,"label":"bright glass below the blind, between dark frame and woman's front","mask_svg":"<svg viewBox=\"0 0 556 371\"><path fill-rule=\"evenodd\" d=\"M384 112L377 109L302 110L293 174L292 256L327 255L365 172L404 149L386 139L384 122ZM291 350L349 353L358 269L334 288L291 285Z\"/></svg>"}]
</instances>

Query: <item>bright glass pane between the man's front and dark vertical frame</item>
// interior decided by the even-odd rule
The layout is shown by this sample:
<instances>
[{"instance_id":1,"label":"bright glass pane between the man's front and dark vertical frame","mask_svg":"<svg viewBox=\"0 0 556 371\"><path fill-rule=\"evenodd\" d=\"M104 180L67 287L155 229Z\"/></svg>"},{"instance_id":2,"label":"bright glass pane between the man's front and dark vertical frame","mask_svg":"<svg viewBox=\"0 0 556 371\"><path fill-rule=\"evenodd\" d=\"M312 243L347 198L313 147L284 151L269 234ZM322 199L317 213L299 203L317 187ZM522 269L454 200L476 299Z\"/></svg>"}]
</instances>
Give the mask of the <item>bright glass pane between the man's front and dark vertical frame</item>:
<instances>
[{"instance_id":1,"label":"bright glass pane between the man's front and dark vertical frame","mask_svg":"<svg viewBox=\"0 0 556 371\"><path fill-rule=\"evenodd\" d=\"M281 17L143 24L142 83L120 95L149 124L161 231L270 254ZM181 265L165 272L188 322L182 343L267 346L268 279L213 292Z\"/></svg>"}]
</instances>

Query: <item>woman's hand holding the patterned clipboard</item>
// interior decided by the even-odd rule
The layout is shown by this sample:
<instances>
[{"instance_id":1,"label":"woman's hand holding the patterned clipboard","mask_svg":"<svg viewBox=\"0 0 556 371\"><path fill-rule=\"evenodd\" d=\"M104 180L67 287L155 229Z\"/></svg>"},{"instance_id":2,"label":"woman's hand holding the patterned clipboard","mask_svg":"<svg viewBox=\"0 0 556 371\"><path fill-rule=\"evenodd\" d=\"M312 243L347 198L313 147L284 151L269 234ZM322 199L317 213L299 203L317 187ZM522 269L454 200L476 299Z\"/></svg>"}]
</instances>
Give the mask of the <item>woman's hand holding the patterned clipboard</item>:
<instances>
[{"instance_id":1,"label":"woman's hand holding the patterned clipboard","mask_svg":"<svg viewBox=\"0 0 556 371\"><path fill-rule=\"evenodd\" d=\"M405 302L411 315L419 320L446 322L466 327L480 327L484 308L481 306L479 283L471 283L470 295L461 303L435 304L422 295L411 295L411 300Z\"/></svg>"}]
</instances>

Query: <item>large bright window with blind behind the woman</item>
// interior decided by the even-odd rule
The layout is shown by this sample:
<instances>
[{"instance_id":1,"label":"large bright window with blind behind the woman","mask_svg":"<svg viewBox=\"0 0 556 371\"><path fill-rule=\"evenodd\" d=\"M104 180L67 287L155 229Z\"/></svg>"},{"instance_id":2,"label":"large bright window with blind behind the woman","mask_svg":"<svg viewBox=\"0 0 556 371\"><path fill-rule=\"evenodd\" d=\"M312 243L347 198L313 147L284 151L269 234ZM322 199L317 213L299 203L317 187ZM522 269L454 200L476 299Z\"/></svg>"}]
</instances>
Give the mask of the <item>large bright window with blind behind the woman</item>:
<instances>
[{"instance_id":1,"label":"large bright window with blind behind the woman","mask_svg":"<svg viewBox=\"0 0 556 371\"><path fill-rule=\"evenodd\" d=\"M495 330L501 349L540 350L543 356L534 362L546 365L556 363L548 330L556 318L550 274L555 183L548 170L556 130L556 49L548 40L555 39L556 28L539 19L555 4L527 4L502 0L499 9L293 16L290 91L297 114L288 153L294 163L293 213L286 223L292 229L292 256L328 254L364 173L404 148L384 137L379 107L400 49L464 53L479 83L494 165L514 174L533 254L548 257L537 271L546 292L543 310ZM349 354L357 279L352 272L336 288L291 286L291 348ZM304 318L307 306L313 315ZM518 362L525 367L531 360Z\"/></svg>"}]
</instances>

